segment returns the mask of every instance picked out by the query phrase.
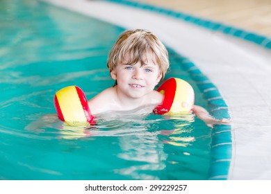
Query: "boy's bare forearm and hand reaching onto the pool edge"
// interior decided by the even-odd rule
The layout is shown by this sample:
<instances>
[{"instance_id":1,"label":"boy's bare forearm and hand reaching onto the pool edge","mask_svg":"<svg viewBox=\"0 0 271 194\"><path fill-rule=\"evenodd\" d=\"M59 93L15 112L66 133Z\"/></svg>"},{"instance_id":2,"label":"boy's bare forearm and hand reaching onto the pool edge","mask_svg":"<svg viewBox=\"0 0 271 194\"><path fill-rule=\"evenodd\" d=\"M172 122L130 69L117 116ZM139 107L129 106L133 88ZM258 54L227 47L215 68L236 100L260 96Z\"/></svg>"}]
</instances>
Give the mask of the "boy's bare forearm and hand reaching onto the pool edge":
<instances>
[{"instance_id":1,"label":"boy's bare forearm and hand reaching onto the pool edge","mask_svg":"<svg viewBox=\"0 0 271 194\"><path fill-rule=\"evenodd\" d=\"M228 119L220 119L217 120L215 118L213 118L213 116L211 116L208 111L206 109L204 109L204 107L200 107L197 105L194 105L192 111L197 115L197 117L199 119L201 119L202 121L204 121L206 123L206 125L208 125L209 127L213 127L213 125L219 124L219 125L229 125L230 121Z\"/></svg>"}]
</instances>

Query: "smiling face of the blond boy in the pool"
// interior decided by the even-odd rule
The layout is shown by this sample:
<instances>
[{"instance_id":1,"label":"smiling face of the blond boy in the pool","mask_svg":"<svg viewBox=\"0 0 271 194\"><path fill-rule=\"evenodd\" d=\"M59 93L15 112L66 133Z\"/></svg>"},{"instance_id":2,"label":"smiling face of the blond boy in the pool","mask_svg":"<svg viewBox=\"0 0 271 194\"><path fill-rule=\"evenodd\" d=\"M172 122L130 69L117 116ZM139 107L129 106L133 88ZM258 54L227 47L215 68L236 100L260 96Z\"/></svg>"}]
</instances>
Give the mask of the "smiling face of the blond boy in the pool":
<instances>
[{"instance_id":1,"label":"smiling face of the blond boy in the pool","mask_svg":"<svg viewBox=\"0 0 271 194\"><path fill-rule=\"evenodd\" d=\"M154 90L161 80L161 72L152 53L145 55L144 64L126 64L128 56L122 64L118 64L110 76L117 80L117 92L128 98L141 98Z\"/></svg>"}]
</instances>

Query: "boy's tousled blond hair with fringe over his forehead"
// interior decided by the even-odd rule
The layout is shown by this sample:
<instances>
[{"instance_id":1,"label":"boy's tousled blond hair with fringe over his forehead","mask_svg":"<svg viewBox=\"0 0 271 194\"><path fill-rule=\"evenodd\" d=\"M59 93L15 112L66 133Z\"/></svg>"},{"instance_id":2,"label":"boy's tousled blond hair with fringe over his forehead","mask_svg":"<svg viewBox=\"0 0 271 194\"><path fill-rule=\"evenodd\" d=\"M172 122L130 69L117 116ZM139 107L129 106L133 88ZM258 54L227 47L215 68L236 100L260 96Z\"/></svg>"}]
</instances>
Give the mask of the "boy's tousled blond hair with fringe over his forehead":
<instances>
[{"instance_id":1,"label":"boy's tousled blond hair with fringe over his forehead","mask_svg":"<svg viewBox=\"0 0 271 194\"><path fill-rule=\"evenodd\" d=\"M113 71L117 65L122 64L128 55L128 62L126 64L136 64L141 62L145 64L147 53L154 55L154 64L158 65L161 80L165 78L165 73L170 66L168 60L167 49L163 43L148 30L136 29L126 30L117 39L113 48L108 55L107 67L109 71Z\"/></svg>"}]
</instances>

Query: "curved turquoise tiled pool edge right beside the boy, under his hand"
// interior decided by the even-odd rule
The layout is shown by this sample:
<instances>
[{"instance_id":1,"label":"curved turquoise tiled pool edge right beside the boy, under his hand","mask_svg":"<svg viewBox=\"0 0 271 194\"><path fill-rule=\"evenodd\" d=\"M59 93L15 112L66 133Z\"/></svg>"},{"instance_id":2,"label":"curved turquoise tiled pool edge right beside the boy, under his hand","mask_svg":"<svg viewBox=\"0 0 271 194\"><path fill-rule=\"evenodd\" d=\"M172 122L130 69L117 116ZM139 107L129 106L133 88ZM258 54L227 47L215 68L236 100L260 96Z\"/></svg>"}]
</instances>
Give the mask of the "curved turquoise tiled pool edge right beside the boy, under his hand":
<instances>
[{"instance_id":1,"label":"curved turquoise tiled pool edge right beside the boy, under his hand","mask_svg":"<svg viewBox=\"0 0 271 194\"><path fill-rule=\"evenodd\" d=\"M217 87L188 58L176 54L171 48L167 49L170 55L174 55L174 60L177 60L182 69L187 71L190 78L197 83L203 98L208 101L208 111L218 119L230 118L227 104ZM231 125L215 125L211 135L211 165L208 179L228 179L232 156Z\"/></svg>"}]
</instances>

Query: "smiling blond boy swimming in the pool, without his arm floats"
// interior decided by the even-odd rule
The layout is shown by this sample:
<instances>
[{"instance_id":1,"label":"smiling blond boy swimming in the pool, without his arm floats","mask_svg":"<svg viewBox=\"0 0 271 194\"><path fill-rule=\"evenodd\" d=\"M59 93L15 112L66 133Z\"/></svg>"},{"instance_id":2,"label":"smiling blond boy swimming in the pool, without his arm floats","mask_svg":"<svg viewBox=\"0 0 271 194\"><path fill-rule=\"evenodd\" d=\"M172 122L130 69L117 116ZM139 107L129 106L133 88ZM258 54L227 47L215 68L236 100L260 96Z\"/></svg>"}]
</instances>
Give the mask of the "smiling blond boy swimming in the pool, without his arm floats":
<instances>
[{"instance_id":1,"label":"smiling blond boy swimming in the pool, without his arm floats","mask_svg":"<svg viewBox=\"0 0 271 194\"><path fill-rule=\"evenodd\" d=\"M154 87L169 68L168 53L162 42L147 30L126 30L115 42L107 62L115 85L88 101L93 115L108 111L128 111L142 107L144 113L163 102L163 94ZM206 109L192 109L207 125L227 124L216 120Z\"/></svg>"}]
</instances>

